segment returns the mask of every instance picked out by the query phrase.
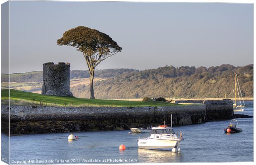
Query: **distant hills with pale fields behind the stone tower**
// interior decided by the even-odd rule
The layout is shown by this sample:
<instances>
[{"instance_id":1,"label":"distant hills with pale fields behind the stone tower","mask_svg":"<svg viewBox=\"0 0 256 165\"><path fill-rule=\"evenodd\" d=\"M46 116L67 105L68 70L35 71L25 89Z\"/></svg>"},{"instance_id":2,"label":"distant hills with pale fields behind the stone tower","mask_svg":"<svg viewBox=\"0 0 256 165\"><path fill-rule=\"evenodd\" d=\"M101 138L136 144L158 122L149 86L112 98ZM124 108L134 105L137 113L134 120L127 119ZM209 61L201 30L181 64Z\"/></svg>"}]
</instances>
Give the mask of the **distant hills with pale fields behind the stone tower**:
<instances>
[{"instance_id":1,"label":"distant hills with pale fields behind the stone tower","mask_svg":"<svg viewBox=\"0 0 256 165\"><path fill-rule=\"evenodd\" d=\"M107 78L117 77L121 74L134 72L134 69L105 69L96 70L94 82L102 81ZM90 74L88 70L71 70L70 71L70 87L77 85L88 85L90 83ZM14 73L10 74L10 84L8 74L1 74L1 88L10 88L20 91L28 91L33 93L41 93L43 85L43 71Z\"/></svg>"}]
</instances>

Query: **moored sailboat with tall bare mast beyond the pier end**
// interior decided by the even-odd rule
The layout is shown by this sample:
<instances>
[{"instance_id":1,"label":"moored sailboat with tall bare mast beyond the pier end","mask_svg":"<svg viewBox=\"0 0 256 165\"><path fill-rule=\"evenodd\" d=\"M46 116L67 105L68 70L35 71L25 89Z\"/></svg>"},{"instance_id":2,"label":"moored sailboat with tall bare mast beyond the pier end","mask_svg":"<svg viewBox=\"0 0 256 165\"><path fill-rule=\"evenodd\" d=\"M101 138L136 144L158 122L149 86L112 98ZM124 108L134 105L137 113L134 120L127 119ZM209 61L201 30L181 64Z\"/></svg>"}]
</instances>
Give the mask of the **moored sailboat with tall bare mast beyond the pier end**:
<instances>
[{"instance_id":1,"label":"moored sailboat with tall bare mast beyond the pier end","mask_svg":"<svg viewBox=\"0 0 256 165\"><path fill-rule=\"evenodd\" d=\"M237 94L238 94L239 101L237 100ZM242 102L241 102L240 96L242 98ZM234 109L234 111L240 111L241 112L241 111L244 111L244 107L245 107L244 99L243 99L243 96L242 96L239 81L237 79L237 73L235 73L235 103L233 104L233 109Z\"/></svg>"}]
</instances>

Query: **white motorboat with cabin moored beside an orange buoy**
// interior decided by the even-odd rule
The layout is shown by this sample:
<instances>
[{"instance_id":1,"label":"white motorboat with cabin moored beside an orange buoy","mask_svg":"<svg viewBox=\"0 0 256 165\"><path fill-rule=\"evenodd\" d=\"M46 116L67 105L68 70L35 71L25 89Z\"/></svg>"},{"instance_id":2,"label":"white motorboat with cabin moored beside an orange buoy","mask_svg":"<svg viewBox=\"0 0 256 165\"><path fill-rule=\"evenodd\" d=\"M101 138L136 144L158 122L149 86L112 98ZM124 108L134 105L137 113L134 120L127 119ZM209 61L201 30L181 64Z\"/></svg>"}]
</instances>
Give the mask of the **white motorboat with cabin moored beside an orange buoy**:
<instances>
[{"instance_id":1,"label":"white motorboat with cabin moored beside an orange buoy","mask_svg":"<svg viewBox=\"0 0 256 165\"><path fill-rule=\"evenodd\" d=\"M172 150L177 152L179 144L183 141L182 133L175 133L172 127L159 125L151 128L150 137L139 138L138 147L141 149Z\"/></svg>"}]
</instances>

